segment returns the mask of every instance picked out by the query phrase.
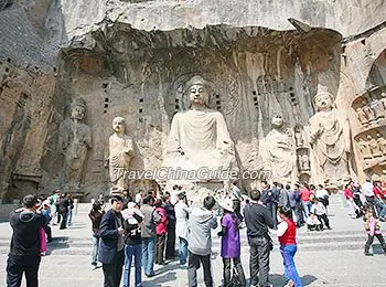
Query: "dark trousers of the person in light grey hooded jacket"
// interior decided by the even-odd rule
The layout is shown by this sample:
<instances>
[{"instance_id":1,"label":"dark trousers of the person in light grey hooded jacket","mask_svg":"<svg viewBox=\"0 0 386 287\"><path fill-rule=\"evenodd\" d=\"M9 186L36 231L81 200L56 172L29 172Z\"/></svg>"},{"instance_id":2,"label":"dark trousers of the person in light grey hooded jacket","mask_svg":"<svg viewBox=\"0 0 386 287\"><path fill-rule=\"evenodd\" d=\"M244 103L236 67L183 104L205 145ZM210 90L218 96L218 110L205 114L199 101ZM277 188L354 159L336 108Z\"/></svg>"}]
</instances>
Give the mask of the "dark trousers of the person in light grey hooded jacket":
<instances>
[{"instance_id":1,"label":"dark trousers of the person in light grey hooded jacket","mask_svg":"<svg viewBox=\"0 0 386 287\"><path fill-rule=\"evenodd\" d=\"M187 264L187 281L189 287L197 287L197 269L203 265L204 269L204 283L206 287L213 287L213 278L211 270L211 254L208 255L196 255L189 252L189 264Z\"/></svg>"}]
</instances>

